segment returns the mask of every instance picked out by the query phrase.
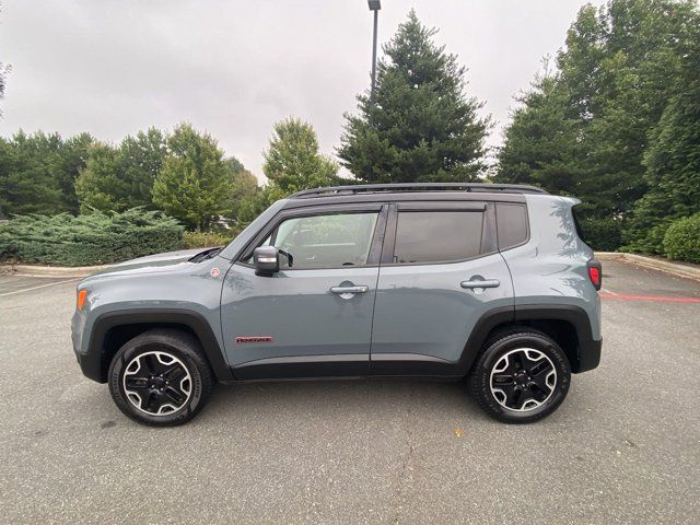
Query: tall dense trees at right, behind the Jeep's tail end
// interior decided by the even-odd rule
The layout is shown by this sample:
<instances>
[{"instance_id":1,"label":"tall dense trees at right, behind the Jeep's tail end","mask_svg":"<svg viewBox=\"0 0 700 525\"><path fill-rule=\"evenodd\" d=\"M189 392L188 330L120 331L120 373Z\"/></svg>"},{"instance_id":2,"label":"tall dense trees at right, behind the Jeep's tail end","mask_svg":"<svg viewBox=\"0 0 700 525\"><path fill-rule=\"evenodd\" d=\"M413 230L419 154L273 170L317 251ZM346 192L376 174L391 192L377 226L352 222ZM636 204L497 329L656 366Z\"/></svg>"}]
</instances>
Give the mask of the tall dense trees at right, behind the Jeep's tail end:
<instances>
[{"instance_id":1,"label":"tall dense trees at right, behind the Jeep's tail end","mask_svg":"<svg viewBox=\"0 0 700 525\"><path fill-rule=\"evenodd\" d=\"M700 212L697 2L583 7L520 103L494 179L580 197L604 247L664 253L674 220Z\"/></svg>"}]
</instances>

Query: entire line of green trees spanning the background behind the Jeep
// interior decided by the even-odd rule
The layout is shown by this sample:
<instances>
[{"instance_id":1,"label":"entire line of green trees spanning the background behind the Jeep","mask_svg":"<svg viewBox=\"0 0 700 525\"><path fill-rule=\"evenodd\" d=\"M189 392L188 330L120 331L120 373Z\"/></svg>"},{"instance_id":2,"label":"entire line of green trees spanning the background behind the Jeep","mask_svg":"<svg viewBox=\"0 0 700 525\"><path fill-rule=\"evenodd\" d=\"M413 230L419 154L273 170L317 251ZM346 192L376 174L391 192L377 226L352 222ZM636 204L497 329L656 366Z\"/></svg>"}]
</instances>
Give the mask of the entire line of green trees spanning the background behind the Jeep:
<instances>
[{"instance_id":1,"label":"entire line of green trees spanning the background behind the Jeep","mask_svg":"<svg viewBox=\"0 0 700 525\"><path fill-rule=\"evenodd\" d=\"M346 183L534 184L580 197L596 248L664 253L672 223L700 212L700 15L693 0L609 0L584 5L553 60L516 97L503 145L467 93L467 70L411 11L383 46L376 90L346 114ZM492 161L495 160L495 162ZM272 200L335 184L311 125L276 125L268 185L209 135L182 125L120 144L89 135L18 133L0 140L5 213L158 208L189 228L218 215L245 223Z\"/></svg>"}]
</instances>

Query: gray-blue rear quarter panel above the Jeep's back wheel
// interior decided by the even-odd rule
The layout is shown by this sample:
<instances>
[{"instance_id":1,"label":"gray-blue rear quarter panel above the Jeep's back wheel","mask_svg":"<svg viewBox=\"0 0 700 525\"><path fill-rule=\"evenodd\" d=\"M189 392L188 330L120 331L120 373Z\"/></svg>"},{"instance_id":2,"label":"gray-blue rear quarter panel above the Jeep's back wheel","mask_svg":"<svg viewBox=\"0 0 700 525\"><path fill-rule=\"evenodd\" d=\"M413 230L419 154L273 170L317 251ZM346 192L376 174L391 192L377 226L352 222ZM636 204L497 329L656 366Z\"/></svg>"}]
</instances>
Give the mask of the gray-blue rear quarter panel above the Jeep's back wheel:
<instances>
[{"instance_id":1,"label":"gray-blue rear quarter panel above the Jeep's back wheel","mask_svg":"<svg viewBox=\"0 0 700 525\"><path fill-rule=\"evenodd\" d=\"M593 250L576 233L571 207L576 199L526 195L530 238L502 252L520 305L578 306L586 312L594 340L600 339L600 299L586 264Z\"/></svg>"}]
</instances>

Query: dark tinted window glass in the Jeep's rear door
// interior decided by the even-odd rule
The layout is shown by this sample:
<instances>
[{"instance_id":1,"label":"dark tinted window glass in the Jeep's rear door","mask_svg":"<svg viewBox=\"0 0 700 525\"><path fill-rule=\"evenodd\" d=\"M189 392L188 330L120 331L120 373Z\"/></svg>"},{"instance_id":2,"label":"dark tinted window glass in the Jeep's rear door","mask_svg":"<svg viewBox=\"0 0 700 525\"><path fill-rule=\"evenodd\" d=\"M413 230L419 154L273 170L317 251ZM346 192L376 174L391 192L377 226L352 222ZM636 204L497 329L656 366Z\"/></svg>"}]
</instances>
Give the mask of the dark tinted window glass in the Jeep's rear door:
<instances>
[{"instance_id":1,"label":"dark tinted window glass in the Jeep's rear door","mask_svg":"<svg viewBox=\"0 0 700 525\"><path fill-rule=\"evenodd\" d=\"M444 262L479 255L480 211L401 211L394 262Z\"/></svg>"}]
</instances>

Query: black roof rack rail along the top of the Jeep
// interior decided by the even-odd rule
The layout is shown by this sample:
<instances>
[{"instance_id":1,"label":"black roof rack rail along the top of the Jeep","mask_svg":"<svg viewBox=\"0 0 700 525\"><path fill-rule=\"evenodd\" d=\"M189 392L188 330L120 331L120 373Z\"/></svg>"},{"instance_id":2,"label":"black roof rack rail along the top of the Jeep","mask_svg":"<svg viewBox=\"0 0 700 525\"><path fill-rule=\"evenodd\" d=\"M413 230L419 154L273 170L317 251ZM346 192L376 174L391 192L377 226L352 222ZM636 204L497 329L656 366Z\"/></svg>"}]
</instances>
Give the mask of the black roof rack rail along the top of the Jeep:
<instances>
[{"instance_id":1,"label":"black roof rack rail along the top of the Jeep","mask_svg":"<svg viewBox=\"0 0 700 525\"><path fill-rule=\"evenodd\" d=\"M490 183L401 183L401 184L357 184L348 186L327 186L304 189L289 196L290 199L310 199L314 197L335 197L354 194L400 192L400 191L481 191L503 194L546 194L536 186L525 184Z\"/></svg>"}]
</instances>

